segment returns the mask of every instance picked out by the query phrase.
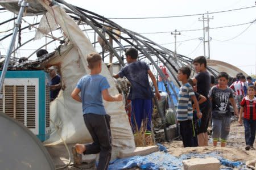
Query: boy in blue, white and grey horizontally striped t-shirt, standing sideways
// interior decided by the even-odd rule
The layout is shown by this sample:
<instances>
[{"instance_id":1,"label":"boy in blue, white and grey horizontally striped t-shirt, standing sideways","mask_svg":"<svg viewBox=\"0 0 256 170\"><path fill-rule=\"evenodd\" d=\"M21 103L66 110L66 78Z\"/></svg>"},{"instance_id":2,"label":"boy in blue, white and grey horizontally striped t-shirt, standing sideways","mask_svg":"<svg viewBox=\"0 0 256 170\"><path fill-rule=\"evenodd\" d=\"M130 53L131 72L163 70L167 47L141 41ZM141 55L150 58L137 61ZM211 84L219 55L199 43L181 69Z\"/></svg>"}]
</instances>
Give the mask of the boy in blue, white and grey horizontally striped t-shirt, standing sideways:
<instances>
[{"instance_id":1,"label":"boy in blue, white and grey horizontally striped t-shirt, standing sideways","mask_svg":"<svg viewBox=\"0 0 256 170\"><path fill-rule=\"evenodd\" d=\"M188 83L190 74L191 70L188 67L181 67L177 74L177 79L182 82L178 96L177 121L180 124L180 135L182 137L184 147L193 146L192 100L196 106L197 117L202 117L193 88Z\"/></svg>"}]
</instances>

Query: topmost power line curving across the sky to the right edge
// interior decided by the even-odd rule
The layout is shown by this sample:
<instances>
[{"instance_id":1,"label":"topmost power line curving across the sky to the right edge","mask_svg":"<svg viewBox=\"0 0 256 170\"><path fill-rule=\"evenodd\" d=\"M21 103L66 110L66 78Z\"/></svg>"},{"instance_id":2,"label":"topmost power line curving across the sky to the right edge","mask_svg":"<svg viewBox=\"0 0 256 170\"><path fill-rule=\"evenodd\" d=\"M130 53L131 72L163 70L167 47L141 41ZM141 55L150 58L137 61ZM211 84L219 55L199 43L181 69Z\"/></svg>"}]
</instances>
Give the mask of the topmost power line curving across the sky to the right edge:
<instances>
[{"instance_id":1,"label":"topmost power line curving across the sky to the right edge","mask_svg":"<svg viewBox=\"0 0 256 170\"><path fill-rule=\"evenodd\" d=\"M141 18L108 18L108 19L159 19L159 18L179 18L185 16L197 16L197 15L204 15L204 14L217 14L221 12L230 12L230 11L237 11L237 10L245 10L248 8L254 8L255 6L244 7L244 8L237 8L233 10L225 10L225 11L216 11L216 12L208 12L208 13L201 13L201 14L190 14L190 15L176 15L176 16L158 16L158 17L141 17Z\"/></svg>"}]
</instances>

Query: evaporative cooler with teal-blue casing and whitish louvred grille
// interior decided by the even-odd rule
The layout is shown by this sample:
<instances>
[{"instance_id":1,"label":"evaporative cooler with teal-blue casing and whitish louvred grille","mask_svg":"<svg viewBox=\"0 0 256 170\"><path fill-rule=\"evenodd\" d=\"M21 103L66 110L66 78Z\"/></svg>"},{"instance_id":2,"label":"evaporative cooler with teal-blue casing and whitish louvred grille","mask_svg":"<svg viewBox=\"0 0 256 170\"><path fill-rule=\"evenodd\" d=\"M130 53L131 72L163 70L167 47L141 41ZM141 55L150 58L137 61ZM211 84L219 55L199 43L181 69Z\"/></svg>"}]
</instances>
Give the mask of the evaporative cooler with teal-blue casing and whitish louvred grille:
<instances>
[{"instance_id":1,"label":"evaporative cooler with teal-blue casing and whitish louvred grille","mask_svg":"<svg viewBox=\"0 0 256 170\"><path fill-rule=\"evenodd\" d=\"M0 111L21 122L40 141L49 138L50 97L45 71L7 71L1 94Z\"/></svg>"}]
</instances>

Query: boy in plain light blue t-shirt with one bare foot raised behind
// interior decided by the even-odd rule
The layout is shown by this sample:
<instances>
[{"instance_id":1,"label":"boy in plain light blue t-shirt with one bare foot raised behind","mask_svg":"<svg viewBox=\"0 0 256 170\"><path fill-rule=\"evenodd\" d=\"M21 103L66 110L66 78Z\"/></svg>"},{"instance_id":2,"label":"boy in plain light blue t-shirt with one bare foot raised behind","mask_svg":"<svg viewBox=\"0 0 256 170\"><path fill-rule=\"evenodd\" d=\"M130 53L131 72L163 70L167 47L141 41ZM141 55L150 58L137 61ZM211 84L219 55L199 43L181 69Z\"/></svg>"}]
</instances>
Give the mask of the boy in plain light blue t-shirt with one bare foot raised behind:
<instances>
[{"instance_id":1,"label":"boy in plain light blue t-shirt with one bare foot raised behind","mask_svg":"<svg viewBox=\"0 0 256 170\"><path fill-rule=\"evenodd\" d=\"M110 116L106 114L102 96L106 101L122 101L122 95L111 96L109 94L108 80L100 75L102 62L100 54L90 53L86 60L91 73L79 80L71 96L82 103L84 122L92 136L93 143L89 145L77 143L75 148L72 148L74 162L81 164L81 155L78 154L98 154L100 152L97 169L108 169L112 151Z\"/></svg>"}]
</instances>

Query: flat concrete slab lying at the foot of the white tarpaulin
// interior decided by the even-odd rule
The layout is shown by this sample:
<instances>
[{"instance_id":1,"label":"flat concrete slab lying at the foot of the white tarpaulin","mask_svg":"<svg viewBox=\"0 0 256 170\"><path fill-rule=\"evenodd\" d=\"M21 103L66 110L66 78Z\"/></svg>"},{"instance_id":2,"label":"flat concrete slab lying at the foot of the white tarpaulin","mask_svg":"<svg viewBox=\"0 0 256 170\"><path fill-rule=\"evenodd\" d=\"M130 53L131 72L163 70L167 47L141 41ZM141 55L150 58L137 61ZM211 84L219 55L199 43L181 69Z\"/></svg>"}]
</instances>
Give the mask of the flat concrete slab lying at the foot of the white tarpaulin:
<instances>
[{"instance_id":1,"label":"flat concrete slab lying at the foot of the white tarpaulin","mask_svg":"<svg viewBox=\"0 0 256 170\"><path fill-rule=\"evenodd\" d=\"M126 150L120 150L117 158L127 158L130 156L144 156L151 154L152 152L159 151L158 146L146 146L146 147L136 147L135 149L126 149Z\"/></svg>"}]
</instances>

